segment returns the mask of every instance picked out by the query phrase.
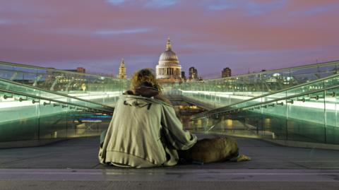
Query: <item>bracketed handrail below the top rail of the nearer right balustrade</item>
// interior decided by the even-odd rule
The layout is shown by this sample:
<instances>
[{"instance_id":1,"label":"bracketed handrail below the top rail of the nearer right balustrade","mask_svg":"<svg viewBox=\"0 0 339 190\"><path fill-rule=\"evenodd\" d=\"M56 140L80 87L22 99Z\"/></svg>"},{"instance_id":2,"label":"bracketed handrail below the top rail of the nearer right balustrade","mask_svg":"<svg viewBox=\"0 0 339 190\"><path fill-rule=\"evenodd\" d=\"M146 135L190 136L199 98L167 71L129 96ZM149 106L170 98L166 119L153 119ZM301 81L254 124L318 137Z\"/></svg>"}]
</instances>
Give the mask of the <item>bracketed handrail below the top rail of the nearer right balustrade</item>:
<instances>
[{"instance_id":1,"label":"bracketed handrail below the top rail of the nearer right balustrade","mask_svg":"<svg viewBox=\"0 0 339 190\"><path fill-rule=\"evenodd\" d=\"M247 106L244 106L244 107L241 107L241 108L237 107L237 108L234 108L234 109L227 109L227 110L223 110L223 111L220 111L220 112L196 114L192 117L191 120L198 119L198 118L201 118L201 117L211 116L213 114L220 114L220 113L224 113L224 112L232 112L234 110L243 111L244 109L249 108L249 107L256 107L258 105L264 105L264 104L269 104L269 103L272 103L272 102L278 102L278 101L281 101L281 100L292 99L294 97L300 97L300 96L303 96L303 95L310 95L310 94L313 94L313 93L319 93L319 92L323 92L323 91L326 91L326 90L331 90L333 88L339 88L339 85L334 85L334 86L331 86L331 87L328 87L328 88L322 88L322 89L319 89L319 90L312 90L312 91L309 91L309 92L306 92L306 93L299 93L297 95L290 95L290 96L287 96L287 97L279 97L279 98L276 98L274 100L268 100L266 102L259 102L259 103L256 103L254 105L247 105Z\"/></svg>"}]
</instances>

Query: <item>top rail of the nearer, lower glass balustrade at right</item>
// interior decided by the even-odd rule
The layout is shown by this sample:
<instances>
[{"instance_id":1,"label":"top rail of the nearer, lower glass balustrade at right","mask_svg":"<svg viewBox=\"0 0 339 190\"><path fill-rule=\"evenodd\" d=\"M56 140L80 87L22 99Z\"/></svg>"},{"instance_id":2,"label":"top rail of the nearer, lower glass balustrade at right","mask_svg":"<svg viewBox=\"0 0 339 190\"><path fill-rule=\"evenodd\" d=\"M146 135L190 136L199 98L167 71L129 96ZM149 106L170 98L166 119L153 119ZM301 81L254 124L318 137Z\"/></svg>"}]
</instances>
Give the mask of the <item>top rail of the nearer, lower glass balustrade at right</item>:
<instances>
[{"instance_id":1,"label":"top rail of the nearer, lower glass balustrade at right","mask_svg":"<svg viewBox=\"0 0 339 190\"><path fill-rule=\"evenodd\" d=\"M314 81L311 81L309 83L302 83L302 84L299 84L299 85L294 85L294 86L291 86L289 88L284 88L283 90L278 90L278 91L274 91L272 93L266 93L266 94L263 94L263 95L258 95L256 97L252 97L250 99L247 99L247 100L243 100L243 101L240 101L240 102L236 102L234 104L231 104L231 105L227 105L225 107L219 107L217 109L213 109L213 110L210 110L210 111L206 111L206 113L208 112L213 112L213 111L217 111L220 110L220 109L226 109L227 107L231 107L231 106L234 106L234 105L238 105L238 104L241 104L241 103L244 103L244 102L248 102L248 101L251 101L251 100L255 100L255 99L258 99L260 97L266 97L268 95L273 95L273 94L277 94L277 93L281 93L281 92L284 92L284 91L287 91L287 90L292 90L292 89L295 89L295 88L299 88L299 87L302 87L304 85L311 85L312 83L319 83L319 81L325 81L325 80L328 80L328 79L331 79L331 78L335 78L335 77L339 77L339 73L338 74L335 74L335 75L332 75L332 76L328 76L328 77L325 77L325 78L319 78L317 80L314 80ZM202 113L201 113L202 114Z\"/></svg>"}]
</instances>

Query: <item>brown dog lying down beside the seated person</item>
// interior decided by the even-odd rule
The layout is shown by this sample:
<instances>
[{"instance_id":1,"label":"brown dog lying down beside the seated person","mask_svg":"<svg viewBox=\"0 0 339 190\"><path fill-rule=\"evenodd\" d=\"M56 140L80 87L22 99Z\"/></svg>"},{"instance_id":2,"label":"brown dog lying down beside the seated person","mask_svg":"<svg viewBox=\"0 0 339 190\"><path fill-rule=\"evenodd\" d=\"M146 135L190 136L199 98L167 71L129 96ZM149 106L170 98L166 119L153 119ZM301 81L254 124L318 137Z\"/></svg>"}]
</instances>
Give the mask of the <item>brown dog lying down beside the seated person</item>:
<instances>
[{"instance_id":1,"label":"brown dog lying down beside the seated person","mask_svg":"<svg viewBox=\"0 0 339 190\"><path fill-rule=\"evenodd\" d=\"M237 141L225 136L204 138L189 150L179 150L178 153L182 163L203 164L227 160L232 162L251 160L246 155L239 155Z\"/></svg>"}]
</instances>

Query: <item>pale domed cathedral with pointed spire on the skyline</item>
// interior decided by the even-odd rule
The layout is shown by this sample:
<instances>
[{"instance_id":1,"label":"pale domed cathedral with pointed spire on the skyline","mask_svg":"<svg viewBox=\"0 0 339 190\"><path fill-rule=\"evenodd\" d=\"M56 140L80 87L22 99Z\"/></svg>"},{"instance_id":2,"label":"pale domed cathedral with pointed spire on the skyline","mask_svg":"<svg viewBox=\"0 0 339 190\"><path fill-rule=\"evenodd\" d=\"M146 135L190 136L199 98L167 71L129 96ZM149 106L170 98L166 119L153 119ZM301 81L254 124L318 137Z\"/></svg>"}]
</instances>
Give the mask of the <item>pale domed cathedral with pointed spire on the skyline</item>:
<instances>
[{"instance_id":1,"label":"pale domed cathedral with pointed spire on the skyline","mask_svg":"<svg viewBox=\"0 0 339 190\"><path fill-rule=\"evenodd\" d=\"M172 51L172 44L167 39L165 52L159 58L159 64L155 69L157 80L160 83L182 82L182 66L179 65L177 54Z\"/></svg>"}]
</instances>

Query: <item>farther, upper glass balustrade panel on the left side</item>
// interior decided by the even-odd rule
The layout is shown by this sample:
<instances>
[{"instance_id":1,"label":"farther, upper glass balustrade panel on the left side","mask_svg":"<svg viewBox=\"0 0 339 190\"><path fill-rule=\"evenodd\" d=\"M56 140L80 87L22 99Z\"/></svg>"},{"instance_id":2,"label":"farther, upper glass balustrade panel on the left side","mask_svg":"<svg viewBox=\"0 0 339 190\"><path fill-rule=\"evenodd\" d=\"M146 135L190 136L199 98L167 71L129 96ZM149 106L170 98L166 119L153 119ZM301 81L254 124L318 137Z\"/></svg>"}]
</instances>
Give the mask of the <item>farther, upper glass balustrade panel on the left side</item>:
<instances>
[{"instance_id":1,"label":"farther, upper glass balustrade panel on the left side","mask_svg":"<svg viewBox=\"0 0 339 190\"><path fill-rule=\"evenodd\" d=\"M85 73L0 62L0 78L114 106L129 81Z\"/></svg>"}]
</instances>

